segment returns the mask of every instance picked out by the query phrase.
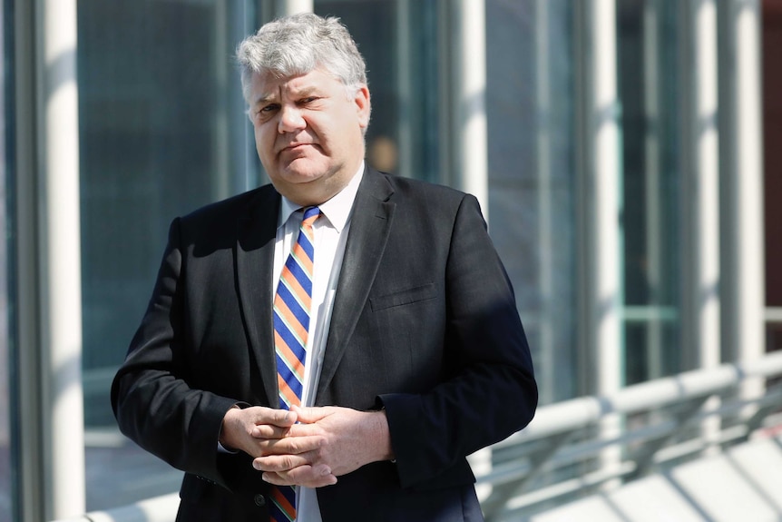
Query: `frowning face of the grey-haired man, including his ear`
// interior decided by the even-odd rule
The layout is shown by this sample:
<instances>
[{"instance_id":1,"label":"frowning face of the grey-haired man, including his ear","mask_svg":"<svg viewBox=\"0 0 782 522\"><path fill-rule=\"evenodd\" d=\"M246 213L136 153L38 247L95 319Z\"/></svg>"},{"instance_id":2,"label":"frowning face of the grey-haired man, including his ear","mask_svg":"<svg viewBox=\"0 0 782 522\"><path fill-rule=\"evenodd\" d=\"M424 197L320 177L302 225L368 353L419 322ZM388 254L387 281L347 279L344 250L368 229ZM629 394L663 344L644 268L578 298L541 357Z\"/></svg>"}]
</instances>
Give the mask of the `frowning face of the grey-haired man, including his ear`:
<instances>
[{"instance_id":1,"label":"frowning face of the grey-haired man, including his ear","mask_svg":"<svg viewBox=\"0 0 782 522\"><path fill-rule=\"evenodd\" d=\"M367 86L348 97L345 85L320 69L282 78L254 74L249 115L260 163L292 202L326 202L364 159Z\"/></svg>"}]
</instances>

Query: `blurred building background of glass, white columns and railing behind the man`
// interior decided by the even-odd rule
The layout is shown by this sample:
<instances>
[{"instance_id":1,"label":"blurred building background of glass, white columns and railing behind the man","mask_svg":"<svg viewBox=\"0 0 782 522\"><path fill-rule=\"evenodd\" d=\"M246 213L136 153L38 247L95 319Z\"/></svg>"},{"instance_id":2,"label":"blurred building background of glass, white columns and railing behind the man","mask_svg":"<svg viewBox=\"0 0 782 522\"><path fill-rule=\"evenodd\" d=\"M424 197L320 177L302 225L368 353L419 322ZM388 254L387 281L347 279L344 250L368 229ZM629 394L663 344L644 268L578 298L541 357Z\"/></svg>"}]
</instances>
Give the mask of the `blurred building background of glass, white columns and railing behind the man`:
<instances>
[{"instance_id":1,"label":"blurred building background of glass, white columns and railing behind the man","mask_svg":"<svg viewBox=\"0 0 782 522\"><path fill-rule=\"evenodd\" d=\"M533 349L534 422L584 416L474 458L494 519L782 424L782 1L2 5L0 521L178 490L108 392L171 219L267 180L233 54L298 10L340 17L367 60L369 163L482 203ZM647 391L612 401L628 389Z\"/></svg>"}]
</instances>

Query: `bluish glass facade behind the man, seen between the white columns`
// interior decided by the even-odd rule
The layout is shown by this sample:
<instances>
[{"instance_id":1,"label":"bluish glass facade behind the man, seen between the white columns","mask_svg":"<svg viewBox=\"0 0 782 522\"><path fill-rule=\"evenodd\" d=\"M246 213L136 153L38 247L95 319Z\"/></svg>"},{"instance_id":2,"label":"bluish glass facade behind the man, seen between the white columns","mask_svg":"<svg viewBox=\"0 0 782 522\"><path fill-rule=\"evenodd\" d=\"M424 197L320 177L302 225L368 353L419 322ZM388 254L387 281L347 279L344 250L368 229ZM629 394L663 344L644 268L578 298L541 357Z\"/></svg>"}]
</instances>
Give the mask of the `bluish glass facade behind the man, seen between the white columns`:
<instances>
[{"instance_id":1,"label":"bluish glass facade behind the man, seen between the white columns","mask_svg":"<svg viewBox=\"0 0 782 522\"><path fill-rule=\"evenodd\" d=\"M233 54L242 38L274 14L272 4L77 3L88 510L179 488L181 472L120 435L108 393L150 297L171 219L266 180ZM695 359L692 347L682 343L681 319L686 291L682 266L689 256L689 245L682 244L689 202L683 196L687 78L682 74L686 29L681 4L615 4L621 109L620 241L614 252L621 260L621 343L616 350L622 354L625 385L689 369L688 361ZM770 0L766 4L774 5ZM13 15L15 0L4 5L0 16ZM367 60L373 108L367 159L380 170L457 184L451 128L455 103L450 98L450 78L460 59L453 45L456 5L436 0L313 2L318 15L342 19ZM583 313L584 280L591 277L584 267L591 265L579 234L585 230L582 222L593 218L587 204L593 194L580 179L585 128L580 118L590 86L583 84L586 38L579 28L591 22L579 19L585 11L572 0L485 0L484 5L486 213L533 349L541 402L549 404L595 393L596 386L591 368L583 364L588 356L579 353L591 327L585 324L591 316ZM768 23L777 22L764 29L764 44L776 49L782 42L782 15L776 6L767 10L776 16L769 16ZM10 19L0 17L6 58L13 55L10 27ZM768 60L765 64L767 82L780 84L778 68ZM10 66L13 60L6 59L0 81L2 132L14 128L9 107L15 101L7 88ZM779 103L771 98L764 103L769 121L778 122ZM767 133L776 136L778 125L770 125ZM0 140L5 158L0 224L9 231L11 188L15 176L24 175L15 172L13 153L5 150L12 143L13 135ZM767 151L767 163L775 162L776 149ZM773 169L767 167L766 175L768 187L779 186ZM773 206L768 193L766 201ZM767 211L767 223L779 222L777 215ZM15 281L6 279L15 277L8 255L14 238L9 236L0 248L0 522L12 518L14 407L9 388L19 378L13 375L11 336ZM768 247L767 259L772 260L780 257L773 241L767 234L774 247ZM778 282L778 277L768 281ZM782 291L774 284L767 287L767 299L778 312ZM769 345L782 346L780 324L782 319L771 322Z\"/></svg>"}]
</instances>

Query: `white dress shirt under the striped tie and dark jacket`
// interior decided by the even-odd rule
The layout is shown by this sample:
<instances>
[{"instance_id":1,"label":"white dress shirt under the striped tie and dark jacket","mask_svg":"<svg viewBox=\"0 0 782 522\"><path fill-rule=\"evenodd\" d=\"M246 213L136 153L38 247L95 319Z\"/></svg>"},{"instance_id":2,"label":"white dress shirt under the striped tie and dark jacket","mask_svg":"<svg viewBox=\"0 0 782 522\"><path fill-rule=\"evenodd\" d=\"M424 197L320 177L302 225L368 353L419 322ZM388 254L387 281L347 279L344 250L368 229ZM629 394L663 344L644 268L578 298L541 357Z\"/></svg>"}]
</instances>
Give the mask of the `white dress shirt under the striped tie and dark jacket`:
<instances>
[{"instance_id":1,"label":"white dress shirt under the striped tie and dark jacket","mask_svg":"<svg viewBox=\"0 0 782 522\"><path fill-rule=\"evenodd\" d=\"M350 229L350 216L356 199L358 185L364 176L364 163L347 186L333 198L318 205L320 217L313 226L315 234L315 259L312 274L312 304L309 310L309 329L307 336L307 359L304 364L304 382L301 404L312 406L320 379L320 369L326 351L328 328L331 322L331 310L337 294L337 281L345 256L347 231ZM286 198L282 198L279 207L277 240L274 244L273 290L277 293L279 275L296 243L303 209ZM321 522L318 496L313 488L297 488L297 521Z\"/></svg>"}]
</instances>

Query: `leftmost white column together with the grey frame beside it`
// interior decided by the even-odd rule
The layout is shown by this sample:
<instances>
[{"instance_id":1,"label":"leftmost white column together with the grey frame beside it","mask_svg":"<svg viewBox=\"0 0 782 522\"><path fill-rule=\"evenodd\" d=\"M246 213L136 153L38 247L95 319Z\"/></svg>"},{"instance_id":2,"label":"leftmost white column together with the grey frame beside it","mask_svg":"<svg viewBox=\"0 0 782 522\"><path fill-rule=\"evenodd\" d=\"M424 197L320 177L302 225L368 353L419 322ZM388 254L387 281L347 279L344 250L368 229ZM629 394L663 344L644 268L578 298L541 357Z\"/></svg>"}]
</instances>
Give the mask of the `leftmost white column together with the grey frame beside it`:
<instances>
[{"instance_id":1,"label":"leftmost white column together with the grey frame beside it","mask_svg":"<svg viewBox=\"0 0 782 522\"><path fill-rule=\"evenodd\" d=\"M84 500L76 0L15 3L16 518Z\"/></svg>"}]
</instances>

